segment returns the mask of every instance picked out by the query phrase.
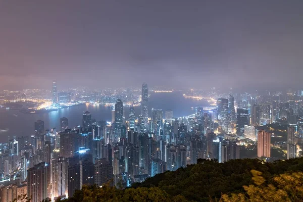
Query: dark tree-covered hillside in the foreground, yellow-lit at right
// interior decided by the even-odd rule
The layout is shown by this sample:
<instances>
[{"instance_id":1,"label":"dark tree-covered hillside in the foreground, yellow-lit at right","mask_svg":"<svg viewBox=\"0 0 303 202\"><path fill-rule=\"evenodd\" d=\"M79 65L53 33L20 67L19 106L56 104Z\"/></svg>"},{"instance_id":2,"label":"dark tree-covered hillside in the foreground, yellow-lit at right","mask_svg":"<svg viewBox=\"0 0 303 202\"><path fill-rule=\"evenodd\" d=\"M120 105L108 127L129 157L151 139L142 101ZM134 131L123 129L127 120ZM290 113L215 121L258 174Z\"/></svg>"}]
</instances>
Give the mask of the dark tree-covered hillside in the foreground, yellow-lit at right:
<instances>
[{"instance_id":1,"label":"dark tree-covered hillside in the foreground, yellow-lit at right","mask_svg":"<svg viewBox=\"0 0 303 202\"><path fill-rule=\"evenodd\" d=\"M124 190L84 187L66 201L302 201L302 171L303 158L273 163L199 160Z\"/></svg>"}]
</instances>

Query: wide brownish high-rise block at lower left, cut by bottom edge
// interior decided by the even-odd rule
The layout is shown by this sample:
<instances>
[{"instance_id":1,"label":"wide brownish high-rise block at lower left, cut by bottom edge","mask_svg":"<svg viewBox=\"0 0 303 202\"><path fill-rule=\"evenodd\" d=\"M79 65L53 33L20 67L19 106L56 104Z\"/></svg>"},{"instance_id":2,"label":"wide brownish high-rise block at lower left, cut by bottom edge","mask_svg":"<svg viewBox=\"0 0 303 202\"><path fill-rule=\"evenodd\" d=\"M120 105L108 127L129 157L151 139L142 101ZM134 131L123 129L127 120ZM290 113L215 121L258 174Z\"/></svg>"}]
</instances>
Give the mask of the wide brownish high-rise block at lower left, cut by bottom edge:
<instances>
[{"instance_id":1,"label":"wide brownish high-rise block at lower left, cut by bottom edge","mask_svg":"<svg viewBox=\"0 0 303 202\"><path fill-rule=\"evenodd\" d=\"M49 164L41 162L27 170L27 195L32 202L40 202L51 197L51 169Z\"/></svg>"}]
</instances>

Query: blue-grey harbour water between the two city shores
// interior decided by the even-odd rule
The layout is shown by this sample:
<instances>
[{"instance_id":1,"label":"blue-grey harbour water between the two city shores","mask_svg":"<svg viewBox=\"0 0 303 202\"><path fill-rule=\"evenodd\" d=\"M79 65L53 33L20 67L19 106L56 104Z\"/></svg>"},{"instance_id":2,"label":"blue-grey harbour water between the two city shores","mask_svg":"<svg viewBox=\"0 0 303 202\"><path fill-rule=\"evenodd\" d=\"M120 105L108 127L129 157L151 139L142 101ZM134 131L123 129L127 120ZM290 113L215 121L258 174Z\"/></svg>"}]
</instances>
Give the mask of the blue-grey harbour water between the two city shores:
<instances>
[{"instance_id":1,"label":"blue-grey harbour water between the two city shores","mask_svg":"<svg viewBox=\"0 0 303 202\"><path fill-rule=\"evenodd\" d=\"M203 100L187 99L182 93L152 93L149 97L149 116L151 109L163 109L165 111L171 109L174 117L187 116L192 114L191 107L204 106L207 103ZM7 129L0 133L0 141L7 141L9 136L25 136L34 133L34 122L37 120L44 121L44 129L60 128L60 118L68 118L69 127L82 125L82 115L85 111L89 111L92 118L96 121L111 121L112 109L110 107L98 105L79 105L71 108L63 108L58 111L52 111L44 114L23 114L17 110L0 109L0 129ZM128 118L129 107L124 107L125 117ZM140 107L135 107L136 116L141 113Z\"/></svg>"}]
</instances>

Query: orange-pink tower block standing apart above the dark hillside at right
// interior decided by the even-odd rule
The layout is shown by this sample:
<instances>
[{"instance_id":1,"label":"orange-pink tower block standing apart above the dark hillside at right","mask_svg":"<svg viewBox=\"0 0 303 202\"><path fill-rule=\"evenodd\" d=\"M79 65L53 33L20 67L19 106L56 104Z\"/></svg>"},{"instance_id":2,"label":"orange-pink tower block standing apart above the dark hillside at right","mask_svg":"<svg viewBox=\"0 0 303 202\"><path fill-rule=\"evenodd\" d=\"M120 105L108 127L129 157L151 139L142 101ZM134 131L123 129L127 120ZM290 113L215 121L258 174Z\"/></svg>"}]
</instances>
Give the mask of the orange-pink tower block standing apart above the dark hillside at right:
<instances>
[{"instance_id":1,"label":"orange-pink tower block standing apart above the dark hillside at right","mask_svg":"<svg viewBox=\"0 0 303 202\"><path fill-rule=\"evenodd\" d=\"M271 133L260 130L258 132L258 157L270 158Z\"/></svg>"}]
</instances>

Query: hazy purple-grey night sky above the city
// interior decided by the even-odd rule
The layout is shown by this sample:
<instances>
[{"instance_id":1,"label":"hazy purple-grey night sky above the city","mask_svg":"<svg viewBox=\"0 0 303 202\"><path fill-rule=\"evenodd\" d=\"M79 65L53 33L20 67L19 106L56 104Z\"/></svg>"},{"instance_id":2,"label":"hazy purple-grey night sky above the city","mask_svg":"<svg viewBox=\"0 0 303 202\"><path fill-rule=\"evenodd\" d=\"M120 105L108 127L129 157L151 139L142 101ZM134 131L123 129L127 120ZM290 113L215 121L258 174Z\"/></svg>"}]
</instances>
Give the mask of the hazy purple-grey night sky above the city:
<instances>
[{"instance_id":1,"label":"hazy purple-grey night sky above the city","mask_svg":"<svg viewBox=\"0 0 303 202\"><path fill-rule=\"evenodd\" d=\"M1 1L0 89L303 87L303 1Z\"/></svg>"}]
</instances>

